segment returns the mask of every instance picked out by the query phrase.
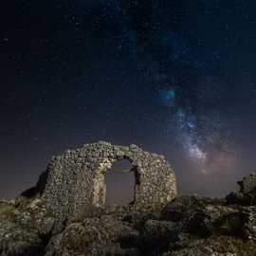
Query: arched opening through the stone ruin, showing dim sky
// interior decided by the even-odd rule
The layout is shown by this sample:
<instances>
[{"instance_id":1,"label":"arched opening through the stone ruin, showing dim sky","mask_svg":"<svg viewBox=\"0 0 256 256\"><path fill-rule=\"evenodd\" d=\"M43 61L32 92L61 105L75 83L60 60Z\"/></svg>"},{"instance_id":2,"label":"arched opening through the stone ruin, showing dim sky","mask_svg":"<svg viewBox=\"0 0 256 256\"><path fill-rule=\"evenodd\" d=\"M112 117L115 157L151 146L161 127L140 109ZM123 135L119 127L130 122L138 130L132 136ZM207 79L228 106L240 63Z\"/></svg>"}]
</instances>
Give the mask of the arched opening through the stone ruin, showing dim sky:
<instances>
[{"instance_id":1,"label":"arched opening through the stone ruin, showing dim sky","mask_svg":"<svg viewBox=\"0 0 256 256\"><path fill-rule=\"evenodd\" d=\"M136 167L128 160L116 161L105 175L107 205L129 205L135 200Z\"/></svg>"}]
</instances>

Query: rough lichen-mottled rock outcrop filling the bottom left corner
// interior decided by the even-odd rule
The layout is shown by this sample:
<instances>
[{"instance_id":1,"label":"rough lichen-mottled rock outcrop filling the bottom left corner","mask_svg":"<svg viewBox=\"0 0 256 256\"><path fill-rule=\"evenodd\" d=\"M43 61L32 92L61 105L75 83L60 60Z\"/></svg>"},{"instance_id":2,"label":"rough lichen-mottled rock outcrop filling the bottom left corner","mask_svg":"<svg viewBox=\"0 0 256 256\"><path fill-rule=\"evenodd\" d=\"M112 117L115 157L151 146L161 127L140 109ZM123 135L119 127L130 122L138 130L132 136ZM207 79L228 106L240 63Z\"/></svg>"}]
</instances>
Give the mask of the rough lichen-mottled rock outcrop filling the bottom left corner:
<instances>
[{"instance_id":1,"label":"rough lichen-mottled rock outcrop filling the bottom left corner","mask_svg":"<svg viewBox=\"0 0 256 256\"><path fill-rule=\"evenodd\" d=\"M1 200L0 255L44 255L53 222L42 199Z\"/></svg>"}]
</instances>

